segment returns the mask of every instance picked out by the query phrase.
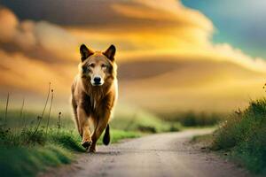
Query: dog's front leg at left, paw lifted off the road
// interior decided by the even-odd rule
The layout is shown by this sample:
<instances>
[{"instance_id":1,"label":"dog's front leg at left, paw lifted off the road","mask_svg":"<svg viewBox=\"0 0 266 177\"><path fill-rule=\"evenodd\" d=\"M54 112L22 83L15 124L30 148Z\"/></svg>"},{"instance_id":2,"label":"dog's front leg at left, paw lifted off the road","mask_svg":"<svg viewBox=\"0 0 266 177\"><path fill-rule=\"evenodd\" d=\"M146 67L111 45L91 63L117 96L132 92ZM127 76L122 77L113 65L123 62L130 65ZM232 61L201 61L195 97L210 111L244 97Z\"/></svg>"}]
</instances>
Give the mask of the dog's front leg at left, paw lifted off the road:
<instances>
[{"instance_id":1,"label":"dog's front leg at left, paw lifted off the road","mask_svg":"<svg viewBox=\"0 0 266 177\"><path fill-rule=\"evenodd\" d=\"M80 124L80 133L82 135L82 146L86 149L90 147L91 136L90 136L90 122L89 117L82 108L82 106L77 107L77 115Z\"/></svg>"}]
</instances>

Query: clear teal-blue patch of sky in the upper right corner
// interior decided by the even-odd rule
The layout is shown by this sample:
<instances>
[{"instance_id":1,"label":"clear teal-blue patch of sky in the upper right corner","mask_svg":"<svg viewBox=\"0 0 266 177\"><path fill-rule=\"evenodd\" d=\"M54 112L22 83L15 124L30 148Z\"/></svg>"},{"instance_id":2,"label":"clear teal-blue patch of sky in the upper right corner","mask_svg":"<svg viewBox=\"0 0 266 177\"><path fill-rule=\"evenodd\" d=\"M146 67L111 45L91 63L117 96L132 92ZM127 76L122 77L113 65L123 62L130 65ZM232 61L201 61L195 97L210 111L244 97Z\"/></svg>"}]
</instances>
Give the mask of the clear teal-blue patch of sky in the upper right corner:
<instances>
[{"instance_id":1,"label":"clear teal-blue patch of sky in the upper right corner","mask_svg":"<svg viewBox=\"0 0 266 177\"><path fill-rule=\"evenodd\" d=\"M266 58L266 1L262 0L183 0L211 19L217 29L214 42L229 42L253 57Z\"/></svg>"}]
</instances>

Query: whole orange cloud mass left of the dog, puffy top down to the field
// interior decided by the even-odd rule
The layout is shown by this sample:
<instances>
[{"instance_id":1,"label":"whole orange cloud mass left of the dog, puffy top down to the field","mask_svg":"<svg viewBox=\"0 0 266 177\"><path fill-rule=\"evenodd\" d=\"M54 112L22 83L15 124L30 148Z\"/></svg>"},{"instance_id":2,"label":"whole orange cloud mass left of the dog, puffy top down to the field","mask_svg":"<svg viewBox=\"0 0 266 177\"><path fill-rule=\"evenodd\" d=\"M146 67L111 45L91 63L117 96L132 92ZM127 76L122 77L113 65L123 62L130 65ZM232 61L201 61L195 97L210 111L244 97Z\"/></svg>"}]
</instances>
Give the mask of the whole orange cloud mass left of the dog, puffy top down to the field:
<instances>
[{"instance_id":1,"label":"whole orange cloud mass left of the dog, puffy top down to the field","mask_svg":"<svg viewBox=\"0 0 266 177\"><path fill-rule=\"evenodd\" d=\"M0 23L0 94L43 96L51 82L66 104L79 62L74 36L47 21L19 20L4 7Z\"/></svg>"}]
</instances>

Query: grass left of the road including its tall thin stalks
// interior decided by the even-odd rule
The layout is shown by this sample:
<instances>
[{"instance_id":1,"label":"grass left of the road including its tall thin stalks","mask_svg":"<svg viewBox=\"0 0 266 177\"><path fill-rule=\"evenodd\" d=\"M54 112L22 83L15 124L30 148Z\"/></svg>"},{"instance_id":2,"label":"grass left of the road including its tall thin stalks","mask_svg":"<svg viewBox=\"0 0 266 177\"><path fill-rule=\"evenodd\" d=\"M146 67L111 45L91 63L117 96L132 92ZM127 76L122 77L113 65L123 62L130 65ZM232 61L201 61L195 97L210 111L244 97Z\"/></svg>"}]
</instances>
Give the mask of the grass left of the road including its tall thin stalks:
<instances>
[{"instance_id":1,"label":"grass left of the road including its tall thin stalks","mask_svg":"<svg viewBox=\"0 0 266 177\"><path fill-rule=\"evenodd\" d=\"M20 110L13 110L10 97L8 94L4 110L0 110L1 176L35 176L49 166L69 164L78 152L85 152L71 116L52 114L51 84L42 112L26 112L24 99ZM111 142L140 135L111 128Z\"/></svg>"}]
</instances>

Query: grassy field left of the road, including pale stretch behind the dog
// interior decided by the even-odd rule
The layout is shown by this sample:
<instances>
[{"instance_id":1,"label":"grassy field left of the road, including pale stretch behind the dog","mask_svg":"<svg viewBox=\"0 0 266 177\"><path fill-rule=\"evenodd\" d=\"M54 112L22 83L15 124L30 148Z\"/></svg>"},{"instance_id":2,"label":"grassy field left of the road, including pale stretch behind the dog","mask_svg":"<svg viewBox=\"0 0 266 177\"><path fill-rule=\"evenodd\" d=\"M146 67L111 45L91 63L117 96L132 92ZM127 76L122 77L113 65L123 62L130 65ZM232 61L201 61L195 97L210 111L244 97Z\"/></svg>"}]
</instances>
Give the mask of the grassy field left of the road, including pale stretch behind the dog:
<instances>
[{"instance_id":1,"label":"grassy field left of the road, including pale stretch behind the dog","mask_svg":"<svg viewBox=\"0 0 266 177\"><path fill-rule=\"evenodd\" d=\"M181 129L179 123L163 121L143 110L120 110L110 125L111 142ZM71 114L49 112L49 109L26 112L9 108L0 112L0 171L3 176L35 176L49 166L69 164L78 153L85 152ZM98 144L101 143L100 139Z\"/></svg>"}]
</instances>

